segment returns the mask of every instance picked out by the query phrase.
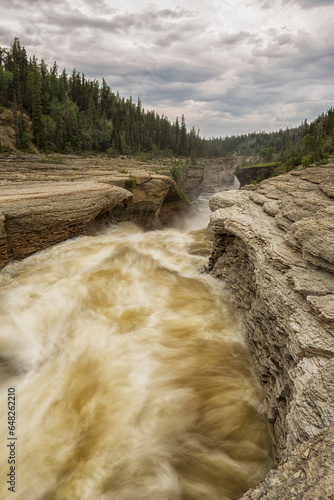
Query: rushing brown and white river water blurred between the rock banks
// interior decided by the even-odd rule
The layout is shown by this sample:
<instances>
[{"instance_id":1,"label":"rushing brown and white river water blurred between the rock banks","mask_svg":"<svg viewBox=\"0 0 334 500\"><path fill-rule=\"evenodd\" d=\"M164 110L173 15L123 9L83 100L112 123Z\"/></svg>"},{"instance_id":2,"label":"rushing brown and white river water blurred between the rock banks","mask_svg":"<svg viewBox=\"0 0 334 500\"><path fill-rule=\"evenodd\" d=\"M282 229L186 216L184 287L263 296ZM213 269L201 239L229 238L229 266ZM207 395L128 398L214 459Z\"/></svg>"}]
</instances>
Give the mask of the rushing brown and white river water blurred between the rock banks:
<instances>
[{"instance_id":1,"label":"rushing brown and white river water blurred between the rock banks","mask_svg":"<svg viewBox=\"0 0 334 500\"><path fill-rule=\"evenodd\" d=\"M126 223L2 270L1 499L237 499L264 477L240 319L198 273L210 245Z\"/></svg>"}]
</instances>

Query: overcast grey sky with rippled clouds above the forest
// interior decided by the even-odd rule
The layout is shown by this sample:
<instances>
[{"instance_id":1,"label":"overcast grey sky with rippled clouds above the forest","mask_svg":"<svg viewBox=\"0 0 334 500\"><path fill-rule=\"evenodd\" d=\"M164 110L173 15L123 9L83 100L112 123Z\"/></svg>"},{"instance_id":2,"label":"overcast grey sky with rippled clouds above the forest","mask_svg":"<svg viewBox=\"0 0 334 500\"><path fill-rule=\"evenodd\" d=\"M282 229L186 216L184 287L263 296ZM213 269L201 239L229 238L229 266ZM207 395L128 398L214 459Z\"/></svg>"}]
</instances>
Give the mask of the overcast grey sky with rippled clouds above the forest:
<instances>
[{"instance_id":1,"label":"overcast grey sky with rippled clouds above the forest","mask_svg":"<svg viewBox=\"0 0 334 500\"><path fill-rule=\"evenodd\" d=\"M61 71L205 137L272 131L334 104L334 0L0 0L0 46L20 38Z\"/></svg>"}]
</instances>

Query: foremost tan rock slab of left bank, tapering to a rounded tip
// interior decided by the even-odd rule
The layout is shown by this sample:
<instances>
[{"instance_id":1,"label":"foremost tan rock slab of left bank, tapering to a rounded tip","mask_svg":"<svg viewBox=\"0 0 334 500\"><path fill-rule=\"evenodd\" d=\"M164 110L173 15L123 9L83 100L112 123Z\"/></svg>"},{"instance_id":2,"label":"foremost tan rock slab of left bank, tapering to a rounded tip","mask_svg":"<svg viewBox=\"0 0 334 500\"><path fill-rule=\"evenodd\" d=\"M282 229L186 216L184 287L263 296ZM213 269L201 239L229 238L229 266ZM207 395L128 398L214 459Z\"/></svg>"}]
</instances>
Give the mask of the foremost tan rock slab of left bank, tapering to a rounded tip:
<instances>
[{"instance_id":1,"label":"foremost tan rock slab of left bank, tapering to a rounded tip","mask_svg":"<svg viewBox=\"0 0 334 500\"><path fill-rule=\"evenodd\" d=\"M1 265L84 234L99 215L125 206L132 194L94 182L1 187Z\"/></svg>"}]
</instances>

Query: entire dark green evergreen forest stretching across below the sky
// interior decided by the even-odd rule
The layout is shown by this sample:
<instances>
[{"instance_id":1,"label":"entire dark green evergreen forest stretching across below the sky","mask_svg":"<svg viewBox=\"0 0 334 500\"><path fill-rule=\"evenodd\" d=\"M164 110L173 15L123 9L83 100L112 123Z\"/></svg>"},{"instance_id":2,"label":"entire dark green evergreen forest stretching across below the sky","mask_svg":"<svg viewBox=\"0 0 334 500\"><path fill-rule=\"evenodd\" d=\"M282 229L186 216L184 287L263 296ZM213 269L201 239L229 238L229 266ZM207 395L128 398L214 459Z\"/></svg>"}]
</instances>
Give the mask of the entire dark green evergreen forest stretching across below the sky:
<instances>
[{"instance_id":1,"label":"entire dark green evergreen forest stretching across below the sky","mask_svg":"<svg viewBox=\"0 0 334 500\"><path fill-rule=\"evenodd\" d=\"M133 102L102 82L71 74L57 63L28 58L20 40L0 48L0 105L14 111L16 146L26 150L32 139L37 148L63 153L107 152L110 155L222 157L240 155L276 159L291 167L322 161L334 152L334 111L331 108L310 124L275 132L252 132L219 138L201 138L188 131L184 115L145 111L140 98ZM27 117L32 121L31 132ZM32 137L31 137L32 135Z\"/></svg>"}]
</instances>

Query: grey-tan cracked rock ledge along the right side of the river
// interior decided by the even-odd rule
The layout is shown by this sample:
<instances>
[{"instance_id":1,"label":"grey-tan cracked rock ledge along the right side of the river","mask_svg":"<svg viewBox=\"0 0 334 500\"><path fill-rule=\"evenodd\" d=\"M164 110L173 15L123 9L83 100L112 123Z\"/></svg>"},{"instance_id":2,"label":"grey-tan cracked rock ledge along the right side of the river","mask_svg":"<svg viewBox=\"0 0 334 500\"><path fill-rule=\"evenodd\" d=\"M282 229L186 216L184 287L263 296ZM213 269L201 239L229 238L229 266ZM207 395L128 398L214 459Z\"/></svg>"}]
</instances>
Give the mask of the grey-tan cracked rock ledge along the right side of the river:
<instances>
[{"instance_id":1,"label":"grey-tan cracked rock ledge along the right side of the river","mask_svg":"<svg viewBox=\"0 0 334 500\"><path fill-rule=\"evenodd\" d=\"M288 459L284 470L297 474L291 464L301 460L301 446L334 444L334 166L218 193L210 207L215 242L208 269L242 310L277 460ZM322 477L316 460L314 467L313 482ZM305 471L275 496L272 485L285 473L271 474L269 493L245 498L332 498L298 496L298 487L294 496L295 484L308 481Z\"/></svg>"}]
</instances>

